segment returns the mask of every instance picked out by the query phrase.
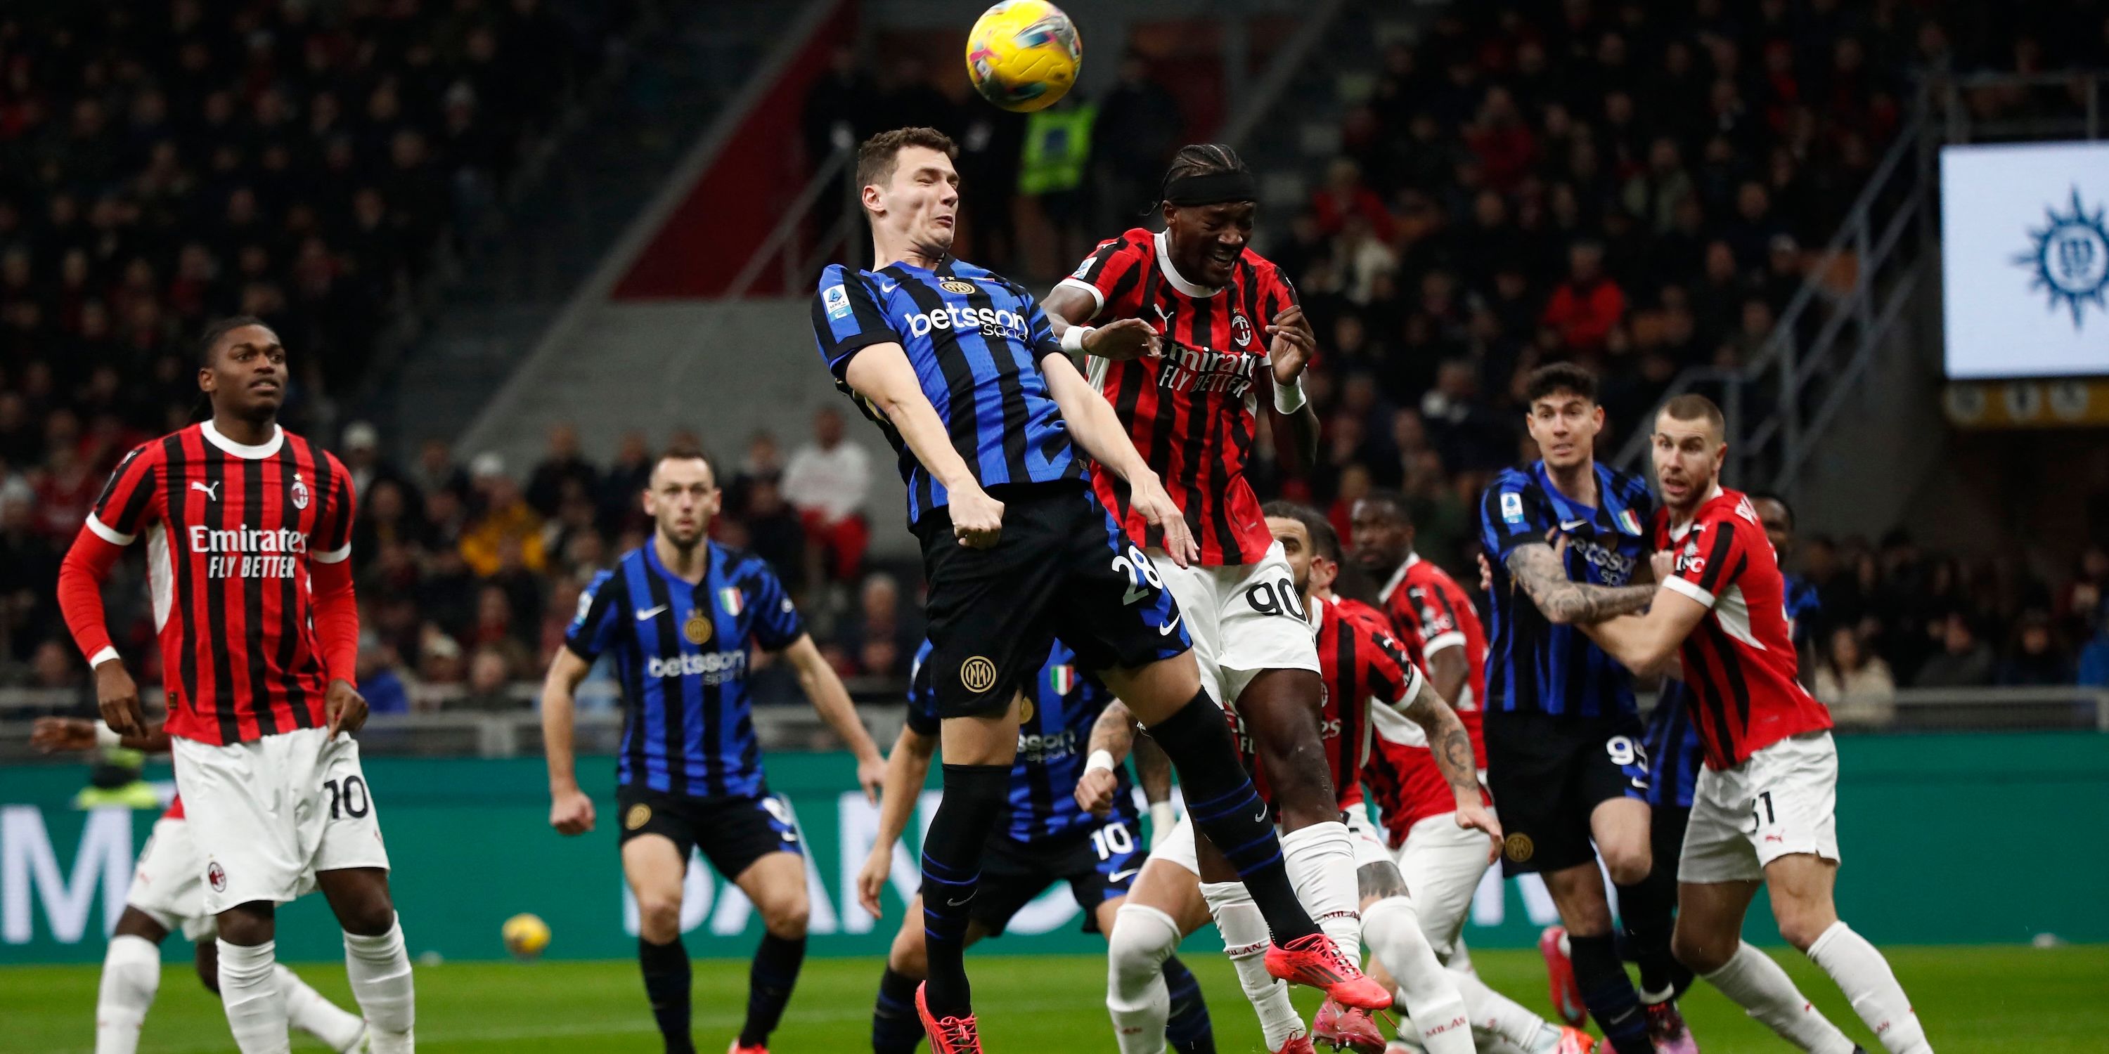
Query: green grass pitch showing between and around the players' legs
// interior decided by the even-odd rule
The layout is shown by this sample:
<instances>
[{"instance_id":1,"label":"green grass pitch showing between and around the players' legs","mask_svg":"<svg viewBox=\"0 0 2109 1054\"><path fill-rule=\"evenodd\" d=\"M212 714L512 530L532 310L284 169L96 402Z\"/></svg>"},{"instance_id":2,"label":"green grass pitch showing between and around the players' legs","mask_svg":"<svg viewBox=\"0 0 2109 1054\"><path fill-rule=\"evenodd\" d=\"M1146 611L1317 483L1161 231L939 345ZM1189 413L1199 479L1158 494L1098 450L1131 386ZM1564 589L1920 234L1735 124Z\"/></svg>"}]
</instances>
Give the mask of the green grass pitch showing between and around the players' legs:
<instances>
[{"instance_id":1,"label":"green grass pitch showing between and around the players' legs","mask_svg":"<svg viewBox=\"0 0 2109 1054\"><path fill-rule=\"evenodd\" d=\"M179 944L169 944L171 953ZM1801 955L1776 953L1824 1014L1871 1050L1852 1008ZM1537 1010L1544 968L1533 953L1472 953L1497 989ZM1890 949L1904 989L1942 1052L2063 1054L2109 1050L2109 946ZM991 1052L1111 1050L1103 1012L1105 961L1090 957L970 957L983 1037ZM1215 1014L1217 1048L1259 1050L1253 1014L1219 955L1194 955ZM778 1054L869 1050L873 959L806 963L797 999L772 1048ZM302 965L323 995L350 1006L344 968ZM0 968L0 1052L89 1054L95 965ZM1312 1003L1305 993L1299 1003ZM698 1050L732 1041L747 1006L747 963L696 963ZM1310 1012L1310 1006L1305 1006ZM1778 1052L1786 1046L1700 984L1685 1014L1706 1054ZM635 963L445 963L418 972L418 1039L426 1054L658 1050ZM293 1043L295 1050L318 1050ZM171 963L146 1022L141 1054L232 1050L219 1001Z\"/></svg>"}]
</instances>

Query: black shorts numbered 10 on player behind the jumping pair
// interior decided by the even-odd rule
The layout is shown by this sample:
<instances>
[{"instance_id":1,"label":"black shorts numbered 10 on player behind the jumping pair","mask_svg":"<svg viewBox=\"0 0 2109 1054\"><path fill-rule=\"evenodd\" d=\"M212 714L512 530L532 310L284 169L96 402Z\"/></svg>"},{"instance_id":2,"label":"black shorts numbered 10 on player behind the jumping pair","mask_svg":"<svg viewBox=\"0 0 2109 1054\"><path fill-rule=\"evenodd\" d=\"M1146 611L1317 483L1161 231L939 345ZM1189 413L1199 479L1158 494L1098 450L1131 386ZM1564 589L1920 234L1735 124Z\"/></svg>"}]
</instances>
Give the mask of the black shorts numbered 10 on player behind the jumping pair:
<instances>
[{"instance_id":1,"label":"black shorts numbered 10 on player behind the jumping pair","mask_svg":"<svg viewBox=\"0 0 2109 1054\"><path fill-rule=\"evenodd\" d=\"M1147 856L1143 826L1122 814L1109 816L1099 826L1036 841L1017 841L998 831L981 852L981 885L974 887L968 919L981 923L989 936L1002 936L1019 909L1048 885L1067 881L1069 894L1084 909L1084 932L1097 934L1099 904L1128 896Z\"/></svg>"}]
</instances>

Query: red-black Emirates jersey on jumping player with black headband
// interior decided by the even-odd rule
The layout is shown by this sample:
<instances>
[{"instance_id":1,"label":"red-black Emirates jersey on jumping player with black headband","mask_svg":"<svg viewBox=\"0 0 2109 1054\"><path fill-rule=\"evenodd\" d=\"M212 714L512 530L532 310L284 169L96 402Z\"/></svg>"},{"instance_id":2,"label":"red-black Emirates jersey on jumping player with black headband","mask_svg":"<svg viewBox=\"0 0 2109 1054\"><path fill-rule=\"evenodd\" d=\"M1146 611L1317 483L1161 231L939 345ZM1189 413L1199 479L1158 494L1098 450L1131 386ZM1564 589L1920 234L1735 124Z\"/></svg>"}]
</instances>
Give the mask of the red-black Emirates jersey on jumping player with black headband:
<instances>
[{"instance_id":1,"label":"red-black Emirates jersey on jumping player with black headband","mask_svg":"<svg viewBox=\"0 0 2109 1054\"><path fill-rule=\"evenodd\" d=\"M1274 535L1244 468L1259 390L1272 384L1265 325L1297 301L1289 278L1246 249L1230 285L1206 289L1173 268L1168 234L1135 228L1101 242L1061 285L1090 295L1090 320L1141 318L1164 335L1162 358L1090 358L1086 373L1185 512L1200 563L1261 559ZM1164 546L1128 504L1126 481L1095 472L1095 487L1130 538Z\"/></svg>"}]
</instances>

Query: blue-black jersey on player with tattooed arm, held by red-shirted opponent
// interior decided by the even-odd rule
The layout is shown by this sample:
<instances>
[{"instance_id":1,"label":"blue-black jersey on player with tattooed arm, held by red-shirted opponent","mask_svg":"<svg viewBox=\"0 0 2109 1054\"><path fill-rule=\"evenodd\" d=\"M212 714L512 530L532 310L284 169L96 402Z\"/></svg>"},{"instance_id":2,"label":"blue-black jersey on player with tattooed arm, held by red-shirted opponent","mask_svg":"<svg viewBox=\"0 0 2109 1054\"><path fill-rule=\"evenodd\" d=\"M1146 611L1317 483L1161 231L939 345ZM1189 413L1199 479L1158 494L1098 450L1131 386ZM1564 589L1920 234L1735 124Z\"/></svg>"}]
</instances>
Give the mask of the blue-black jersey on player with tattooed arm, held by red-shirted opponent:
<instances>
[{"instance_id":1,"label":"blue-black jersey on player with tattooed arm, held by red-shirted opponent","mask_svg":"<svg viewBox=\"0 0 2109 1054\"><path fill-rule=\"evenodd\" d=\"M1597 464L1599 506L1569 502L1546 464L1508 468L1481 497L1478 533L1493 565L1487 639L1487 710L1544 715L1632 715L1632 672L1573 626L1554 626L1508 573L1508 554L1567 538L1567 578L1624 586L1647 559L1656 500L1647 481Z\"/></svg>"}]
</instances>

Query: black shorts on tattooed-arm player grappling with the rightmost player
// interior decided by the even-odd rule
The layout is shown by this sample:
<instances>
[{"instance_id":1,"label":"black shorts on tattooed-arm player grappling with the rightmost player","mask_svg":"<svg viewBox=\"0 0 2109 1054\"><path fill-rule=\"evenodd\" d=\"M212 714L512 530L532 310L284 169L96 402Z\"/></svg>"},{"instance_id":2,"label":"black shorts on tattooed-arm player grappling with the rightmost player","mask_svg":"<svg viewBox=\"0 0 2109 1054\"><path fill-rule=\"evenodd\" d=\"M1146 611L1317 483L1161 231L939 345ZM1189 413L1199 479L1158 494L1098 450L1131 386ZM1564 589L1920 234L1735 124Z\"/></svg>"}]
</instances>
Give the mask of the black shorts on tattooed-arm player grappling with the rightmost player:
<instances>
[{"instance_id":1,"label":"black shorts on tattooed-arm player grappling with the rightmost player","mask_svg":"<svg viewBox=\"0 0 2109 1054\"><path fill-rule=\"evenodd\" d=\"M1565 871L1597 858L1597 805L1647 801L1641 719L1487 710L1487 788L1502 812L1502 873Z\"/></svg>"}]
</instances>

